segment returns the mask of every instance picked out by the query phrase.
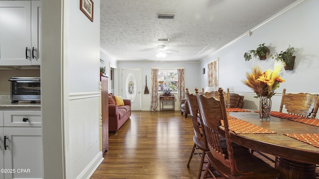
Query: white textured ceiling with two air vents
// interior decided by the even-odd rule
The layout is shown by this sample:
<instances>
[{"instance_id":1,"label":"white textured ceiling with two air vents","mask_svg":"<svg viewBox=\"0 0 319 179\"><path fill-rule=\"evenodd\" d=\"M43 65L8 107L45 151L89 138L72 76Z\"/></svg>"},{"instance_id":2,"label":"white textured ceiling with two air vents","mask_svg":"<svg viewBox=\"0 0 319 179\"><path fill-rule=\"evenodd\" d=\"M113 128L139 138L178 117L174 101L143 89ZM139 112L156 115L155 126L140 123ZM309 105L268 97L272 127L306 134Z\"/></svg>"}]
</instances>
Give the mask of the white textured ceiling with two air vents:
<instances>
[{"instance_id":1,"label":"white textured ceiling with two air vents","mask_svg":"<svg viewBox=\"0 0 319 179\"><path fill-rule=\"evenodd\" d=\"M295 1L101 0L100 47L119 61L201 60ZM157 58L158 45L173 52Z\"/></svg>"}]
</instances>

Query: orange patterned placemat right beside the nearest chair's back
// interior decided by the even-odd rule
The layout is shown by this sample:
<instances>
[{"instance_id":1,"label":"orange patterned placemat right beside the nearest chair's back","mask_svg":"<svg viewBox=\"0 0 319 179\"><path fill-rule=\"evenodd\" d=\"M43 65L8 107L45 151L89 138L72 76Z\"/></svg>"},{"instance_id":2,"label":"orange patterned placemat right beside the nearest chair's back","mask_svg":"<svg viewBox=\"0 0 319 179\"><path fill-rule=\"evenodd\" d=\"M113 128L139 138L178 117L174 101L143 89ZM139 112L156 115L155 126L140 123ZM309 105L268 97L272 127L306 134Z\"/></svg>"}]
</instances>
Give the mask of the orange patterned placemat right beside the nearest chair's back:
<instances>
[{"instance_id":1,"label":"orange patterned placemat right beside the nearest chair's back","mask_svg":"<svg viewBox=\"0 0 319 179\"><path fill-rule=\"evenodd\" d=\"M235 117L228 118L229 130L235 134L275 134L276 132L265 129L258 125L249 123L247 121L237 119ZM224 126L223 120L221 125Z\"/></svg>"}]
</instances>

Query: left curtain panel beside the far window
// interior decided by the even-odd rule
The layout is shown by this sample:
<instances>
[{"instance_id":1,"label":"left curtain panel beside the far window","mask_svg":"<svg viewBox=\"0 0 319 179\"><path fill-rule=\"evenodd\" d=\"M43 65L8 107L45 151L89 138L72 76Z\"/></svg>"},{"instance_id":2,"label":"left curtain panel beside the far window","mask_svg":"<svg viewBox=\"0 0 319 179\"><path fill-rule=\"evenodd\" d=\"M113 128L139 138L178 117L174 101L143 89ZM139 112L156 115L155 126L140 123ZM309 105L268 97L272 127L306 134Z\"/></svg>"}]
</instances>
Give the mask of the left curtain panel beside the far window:
<instances>
[{"instance_id":1,"label":"left curtain panel beside the far window","mask_svg":"<svg viewBox=\"0 0 319 179\"><path fill-rule=\"evenodd\" d=\"M151 111L157 111L159 105L158 74L159 69L151 69Z\"/></svg>"}]
</instances>

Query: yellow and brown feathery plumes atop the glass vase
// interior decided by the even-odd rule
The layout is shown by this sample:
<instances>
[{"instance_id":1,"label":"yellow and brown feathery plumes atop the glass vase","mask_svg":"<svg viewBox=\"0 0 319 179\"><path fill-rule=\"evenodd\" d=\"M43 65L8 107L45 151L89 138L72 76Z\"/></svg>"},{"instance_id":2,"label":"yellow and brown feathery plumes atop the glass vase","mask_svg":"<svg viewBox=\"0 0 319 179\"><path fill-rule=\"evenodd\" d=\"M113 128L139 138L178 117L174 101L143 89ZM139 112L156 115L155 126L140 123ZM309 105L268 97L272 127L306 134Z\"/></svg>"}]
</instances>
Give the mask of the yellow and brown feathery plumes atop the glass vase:
<instances>
[{"instance_id":1,"label":"yellow and brown feathery plumes atop the glass vase","mask_svg":"<svg viewBox=\"0 0 319 179\"><path fill-rule=\"evenodd\" d=\"M247 80L242 81L245 85L252 88L261 100L271 98L275 94L275 90L279 88L279 84L285 82L279 75L285 63L276 61L274 70L266 70L262 72L258 66L255 66L252 73L246 73Z\"/></svg>"}]
</instances>

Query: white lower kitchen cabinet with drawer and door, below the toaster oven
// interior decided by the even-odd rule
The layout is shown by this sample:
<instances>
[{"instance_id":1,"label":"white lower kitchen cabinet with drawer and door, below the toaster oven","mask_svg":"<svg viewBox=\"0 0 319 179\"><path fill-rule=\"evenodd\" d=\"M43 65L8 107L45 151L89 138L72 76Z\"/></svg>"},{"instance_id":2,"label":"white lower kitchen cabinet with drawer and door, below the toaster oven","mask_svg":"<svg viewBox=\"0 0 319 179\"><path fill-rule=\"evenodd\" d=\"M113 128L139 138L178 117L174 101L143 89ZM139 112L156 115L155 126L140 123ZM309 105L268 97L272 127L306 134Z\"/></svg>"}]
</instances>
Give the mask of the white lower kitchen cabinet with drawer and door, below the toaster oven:
<instances>
[{"instance_id":1,"label":"white lower kitchen cabinet with drawer and door, below the toaster oven","mask_svg":"<svg viewBox=\"0 0 319 179\"><path fill-rule=\"evenodd\" d=\"M39 110L0 110L0 179L43 178L41 121Z\"/></svg>"}]
</instances>

